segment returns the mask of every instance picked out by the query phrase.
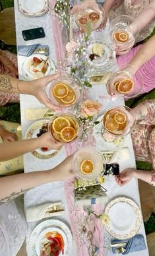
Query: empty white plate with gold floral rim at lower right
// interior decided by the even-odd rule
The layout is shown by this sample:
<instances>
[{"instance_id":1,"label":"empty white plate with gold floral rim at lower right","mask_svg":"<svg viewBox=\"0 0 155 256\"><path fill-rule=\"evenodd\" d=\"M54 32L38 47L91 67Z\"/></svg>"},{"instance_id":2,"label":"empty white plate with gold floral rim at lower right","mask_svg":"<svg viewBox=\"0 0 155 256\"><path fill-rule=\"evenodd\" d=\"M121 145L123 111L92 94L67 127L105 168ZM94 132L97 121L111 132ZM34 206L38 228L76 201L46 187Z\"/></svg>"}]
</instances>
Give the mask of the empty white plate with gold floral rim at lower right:
<instances>
[{"instance_id":1,"label":"empty white plate with gold floral rim at lower right","mask_svg":"<svg viewBox=\"0 0 155 256\"><path fill-rule=\"evenodd\" d=\"M111 200L106 206L105 213L109 215L110 222L106 230L117 239L127 239L137 234L142 214L139 206L126 197Z\"/></svg>"}]
</instances>

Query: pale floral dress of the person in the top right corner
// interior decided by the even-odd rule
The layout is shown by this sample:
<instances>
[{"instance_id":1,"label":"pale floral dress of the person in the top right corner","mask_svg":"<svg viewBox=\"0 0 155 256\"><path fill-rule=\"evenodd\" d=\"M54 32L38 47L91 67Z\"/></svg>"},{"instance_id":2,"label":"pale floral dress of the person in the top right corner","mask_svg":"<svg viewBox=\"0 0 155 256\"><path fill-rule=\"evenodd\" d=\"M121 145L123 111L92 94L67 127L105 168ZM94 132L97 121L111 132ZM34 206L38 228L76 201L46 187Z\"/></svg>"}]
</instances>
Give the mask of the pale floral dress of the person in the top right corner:
<instances>
[{"instance_id":1,"label":"pale floral dress of the person in the top right corner","mask_svg":"<svg viewBox=\"0 0 155 256\"><path fill-rule=\"evenodd\" d=\"M137 5L133 5L132 0L124 0L123 3L121 3L121 5L117 7L117 9L112 8L109 11L109 21L111 21L112 19L114 19L119 15L129 15L133 18L136 18L139 15L140 11L146 8L150 2L151 0L142 0L140 1L139 4L137 3ZM145 26L145 28L140 30L140 33L136 39L136 42L140 42L145 38L147 38L150 35L150 33L153 31L154 26L155 26L155 22L153 21L153 22L150 22L147 26Z\"/></svg>"}]
</instances>

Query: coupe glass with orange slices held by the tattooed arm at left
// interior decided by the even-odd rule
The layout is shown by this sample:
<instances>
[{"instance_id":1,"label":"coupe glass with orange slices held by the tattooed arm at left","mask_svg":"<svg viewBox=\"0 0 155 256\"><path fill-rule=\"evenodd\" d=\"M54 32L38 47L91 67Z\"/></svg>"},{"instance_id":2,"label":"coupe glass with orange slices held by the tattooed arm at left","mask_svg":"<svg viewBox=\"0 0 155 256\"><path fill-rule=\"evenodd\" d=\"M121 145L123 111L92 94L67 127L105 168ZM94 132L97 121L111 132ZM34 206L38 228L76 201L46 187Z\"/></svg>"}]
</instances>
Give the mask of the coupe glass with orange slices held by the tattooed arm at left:
<instances>
[{"instance_id":1,"label":"coupe glass with orange slices held by the tattooed arm at left","mask_svg":"<svg viewBox=\"0 0 155 256\"><path fill-rule=\"evenodd\" d=\"M78 77L73 76L71 73L68 73L67 71L60 71L61 75L57 79L53 79L53 81L49 82L46 86L46 94L47 97L50 99L50 101L59 107L71 107L78 103L82 97L83 89L82 89L82 83L80 82L80 79ZM63 97L62 99L59 99L55 97L53 94L53 87L55 85L58 85L62 83L63 85L67 85L69 92L72 91L74 95L74 99Z\"/></svg>"}]
</instances>

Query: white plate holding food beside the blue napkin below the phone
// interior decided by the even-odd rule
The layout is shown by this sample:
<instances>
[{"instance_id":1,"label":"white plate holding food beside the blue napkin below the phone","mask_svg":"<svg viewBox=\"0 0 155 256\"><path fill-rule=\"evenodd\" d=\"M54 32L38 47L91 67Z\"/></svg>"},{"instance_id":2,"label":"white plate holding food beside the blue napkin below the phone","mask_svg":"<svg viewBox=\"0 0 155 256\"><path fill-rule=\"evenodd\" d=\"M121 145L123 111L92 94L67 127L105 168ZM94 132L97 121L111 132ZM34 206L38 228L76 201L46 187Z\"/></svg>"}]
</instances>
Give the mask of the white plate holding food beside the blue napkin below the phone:
<instances>
[{"instance_id":1,"label":"white plate holding food beside the blue napkin below the phone","mask_svg":"<svg viewBox=\"0 0 155 256\"><path fill-rule=\"evenodd\" d=\"M42 60L47 60L47 56L44 56L42 54L32 54L31 56L27 57L26 60L24 60L23 64L22 64L22 75L24 76L24 79L26 80L34 80L35 77L35 73L30 70L30 68L28 68L30 66L30 62L31 60L36 57ZM47 60L48 63L48 67L47 67L47 71L45 74L42 74L42 76L46 76L52 73L55 73L55 64L52 60L48 59Z\"/></svg>"}]
</instances>

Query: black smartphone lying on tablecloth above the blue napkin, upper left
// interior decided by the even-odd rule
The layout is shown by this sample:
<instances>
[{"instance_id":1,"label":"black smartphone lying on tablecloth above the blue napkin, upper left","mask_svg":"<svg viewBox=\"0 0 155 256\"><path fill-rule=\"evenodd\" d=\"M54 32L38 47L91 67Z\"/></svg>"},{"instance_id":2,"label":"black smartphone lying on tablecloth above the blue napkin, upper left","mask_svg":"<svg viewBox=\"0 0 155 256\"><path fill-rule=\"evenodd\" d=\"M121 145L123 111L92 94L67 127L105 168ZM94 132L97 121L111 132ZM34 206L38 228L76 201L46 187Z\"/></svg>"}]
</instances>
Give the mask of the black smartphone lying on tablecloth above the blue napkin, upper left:
<instances>
[{"instance_id":1,"label":"black smartphone lying on tablecloth above the blue napkin, upper left","mask_svg":"<svg viewBox=\"0 0 155 256\"><path fill-rule=\"evenodd\" d=\"M27 30L22 30L22 36L25 41L33 40L37 38L45 37L44 28L31 28Z\"/></svg>"}]
</instances>

